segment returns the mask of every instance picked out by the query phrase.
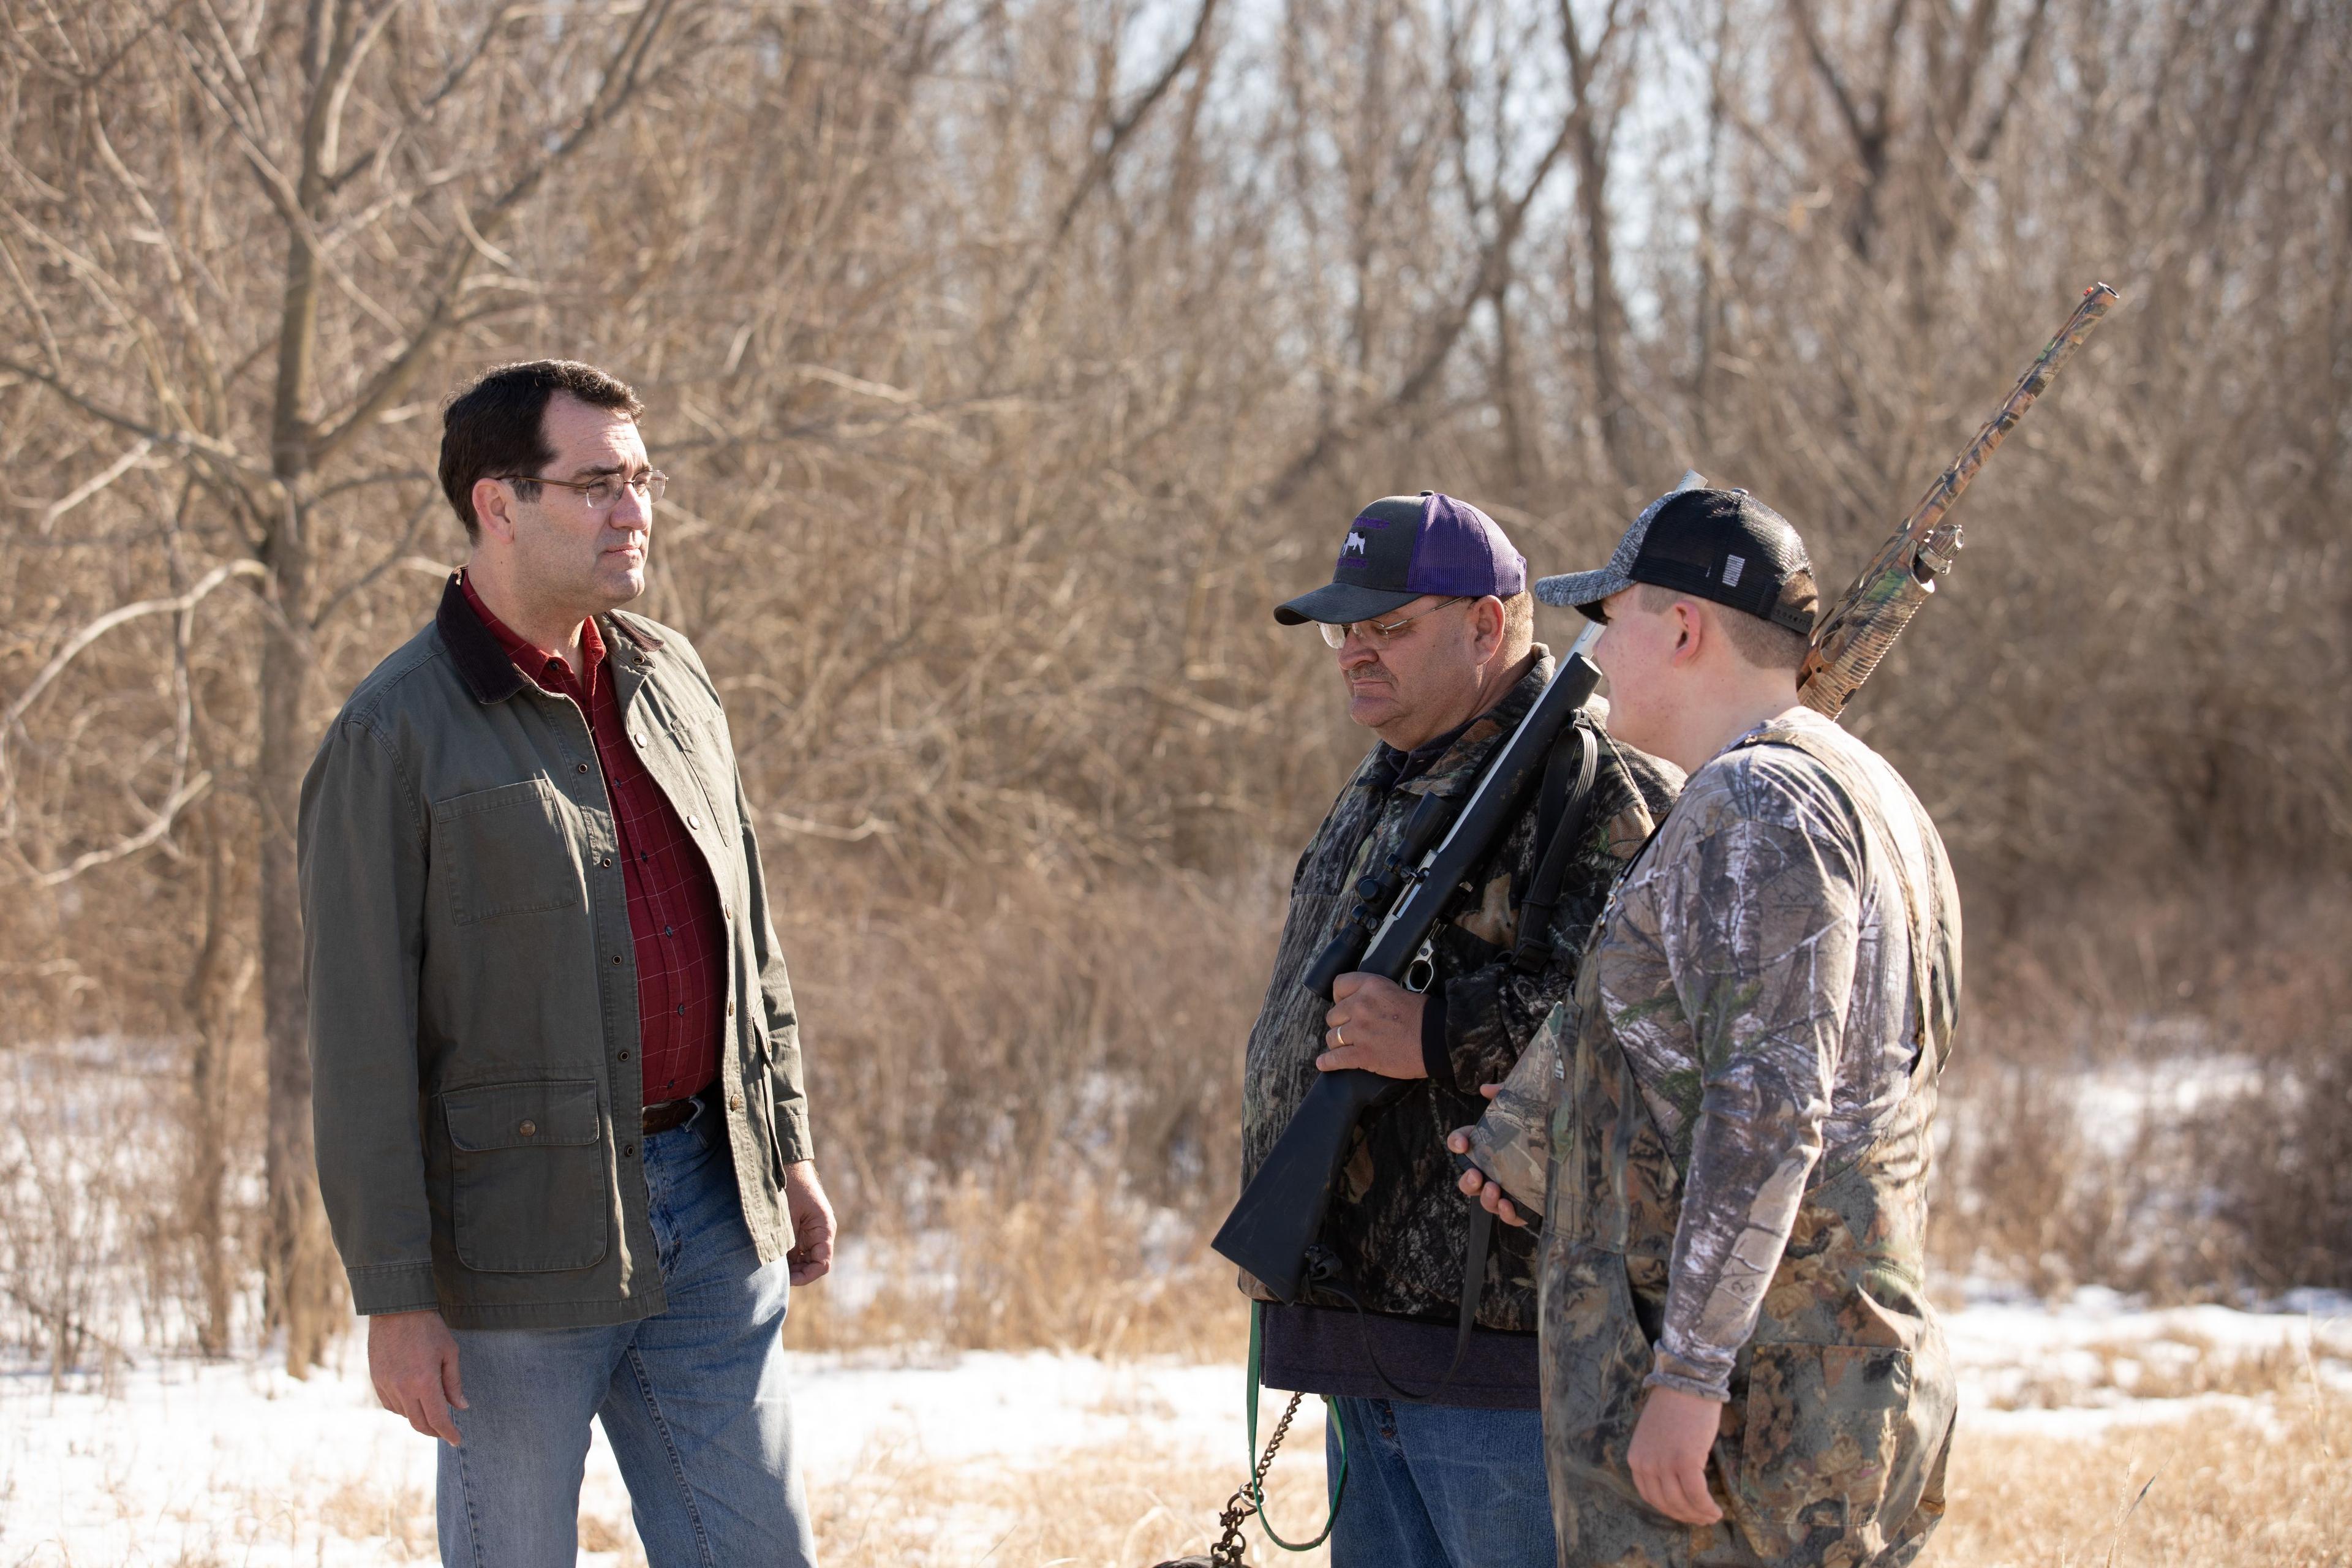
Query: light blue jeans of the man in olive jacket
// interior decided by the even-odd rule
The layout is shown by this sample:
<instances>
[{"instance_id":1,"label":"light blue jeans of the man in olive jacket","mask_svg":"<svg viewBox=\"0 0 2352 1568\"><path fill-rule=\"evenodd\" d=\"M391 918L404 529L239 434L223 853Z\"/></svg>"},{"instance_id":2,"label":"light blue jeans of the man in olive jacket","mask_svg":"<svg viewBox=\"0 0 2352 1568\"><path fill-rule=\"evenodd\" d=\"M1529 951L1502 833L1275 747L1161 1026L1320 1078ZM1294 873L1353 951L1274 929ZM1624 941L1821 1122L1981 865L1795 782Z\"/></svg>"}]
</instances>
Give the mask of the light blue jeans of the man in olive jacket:
<instances>
[{"instance_id":1,"label":"light blue jeans of the man in olive jacket","mask_svg":"<svg viewBox=\"0 0 2352 1568\"><path fill-rule=\"evenodd\" d=\"M809 1568L783 1387L783 1260L760 1267L734 1161L701 1124L640 1140L668 1309L607 1328L461 1328L440 1446L452 1568L574 1568L588 1422L604 1422L652 1568ZM720 1140L722 1131L715 1133Z\"/></svg>"}]
</instances>

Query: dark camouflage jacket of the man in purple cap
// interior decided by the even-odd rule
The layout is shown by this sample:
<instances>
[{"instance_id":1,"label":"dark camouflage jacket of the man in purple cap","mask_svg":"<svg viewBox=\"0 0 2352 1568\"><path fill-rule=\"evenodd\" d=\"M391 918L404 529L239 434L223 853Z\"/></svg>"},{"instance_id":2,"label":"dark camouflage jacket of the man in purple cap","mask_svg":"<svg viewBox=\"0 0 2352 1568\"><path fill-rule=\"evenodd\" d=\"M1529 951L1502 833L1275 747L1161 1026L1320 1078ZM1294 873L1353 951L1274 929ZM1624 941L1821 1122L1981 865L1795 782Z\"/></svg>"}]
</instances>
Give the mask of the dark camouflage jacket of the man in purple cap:
<instances>
[{"instance_id":1,"label":"dark camouflage jacket of the man in purple cap","mask_svg":"<svg viewBox=\"0 0 2352 1568\"><path fill-rule=\"evenodd\" d=\"M1552 677L1541 646L1510 693L1463 729L1423 773L1388 788L1397 752L1376 745L1331 804L1291 875L1291 907L1275 952L1265 1004L1249 1032L1242 1084L1242 1180L1289 1126L1315 1081L1329 1004L1301 985L1331 936L1355 907L1352 886L1385 863L1404 818L1423 795L1461 799ZM1595 724L1590 712L1578 724ZM1437 983L1444 994L1444 1044L1451 1084L1416 1079L1411 1091L1357 1128L1341 1190L1322 1239L1338 1253L1367 1312L1451 1319L1461 1298L1461 1260L1470 1208L1454 1187L1444 1135L1484 1110L1479 1084L1498 1084L1545 1013L1576 983L1576 954L1623 860L1649 837L1656 813L1672 804L1679 773L1602 736L1602 766L1585 842L1552 912L1552 957L1524 976L1510 959L1519 933L1519 903L1536 872L1536 799L1531 797L1470 877L1482 889L1463 898L1435 933ZM1265 1300L1254 1279L1242 1288ZM1338 1307L1338 1298L1315 1298ZM1479 1326L1531 1333L1536 1328L1534 1239L1501 1234L1486 1255Z\"/></svg>"}]
</instances>

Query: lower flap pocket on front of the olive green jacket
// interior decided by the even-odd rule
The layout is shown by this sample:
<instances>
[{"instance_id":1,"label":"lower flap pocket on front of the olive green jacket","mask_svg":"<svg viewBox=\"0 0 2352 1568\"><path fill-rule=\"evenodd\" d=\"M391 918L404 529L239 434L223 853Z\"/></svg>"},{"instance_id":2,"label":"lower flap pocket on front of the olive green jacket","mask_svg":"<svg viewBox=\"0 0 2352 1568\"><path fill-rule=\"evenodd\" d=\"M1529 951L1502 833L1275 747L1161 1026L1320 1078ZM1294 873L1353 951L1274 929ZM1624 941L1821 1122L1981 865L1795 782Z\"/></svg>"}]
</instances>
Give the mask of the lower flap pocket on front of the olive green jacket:
<instances>
[{"instance_id":1,"label":"lower flap pocket on front of the olive green jacket","mask_svg":"<svg viewBox=\"0 0 2352 1568\"><path fill-rule=\"evenodd\" d=\"M595 1084L492 1084L440 1100L459 1262L485 1274L602 1262L609 1206Z\"/></svg>"}]
</instances>

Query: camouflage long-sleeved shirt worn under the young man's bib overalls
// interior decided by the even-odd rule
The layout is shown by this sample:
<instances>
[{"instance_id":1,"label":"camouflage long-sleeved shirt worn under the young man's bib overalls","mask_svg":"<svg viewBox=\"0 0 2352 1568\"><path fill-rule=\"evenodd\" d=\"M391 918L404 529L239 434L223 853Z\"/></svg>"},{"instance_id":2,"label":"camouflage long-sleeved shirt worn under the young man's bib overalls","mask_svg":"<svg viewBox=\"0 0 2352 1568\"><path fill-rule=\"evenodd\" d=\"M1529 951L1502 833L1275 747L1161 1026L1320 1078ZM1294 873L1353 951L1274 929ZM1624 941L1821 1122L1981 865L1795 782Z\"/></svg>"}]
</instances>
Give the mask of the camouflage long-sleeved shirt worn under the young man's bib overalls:
<instances>
[{"instance_id":1,"label":"camouflage long-sleeved shirt worn under the young man's bib overalls","mask_svg":"<svg viewBox=\"0 0 2352 1568\"><path fill-rule=\"evenodd\" d=\"M1804 729L1856 788L1773 736ZM1684 1171L1651 1382L1726 1399L1804 1192L1903 1105L1917 971L1898 867L1933 889L1938 1016L1957 1006L1959 903L1910 788L1844 729L1795 710L1698 769L1618 886L1592 952L1599 1006Z\"/></svg>"}]
</instances>

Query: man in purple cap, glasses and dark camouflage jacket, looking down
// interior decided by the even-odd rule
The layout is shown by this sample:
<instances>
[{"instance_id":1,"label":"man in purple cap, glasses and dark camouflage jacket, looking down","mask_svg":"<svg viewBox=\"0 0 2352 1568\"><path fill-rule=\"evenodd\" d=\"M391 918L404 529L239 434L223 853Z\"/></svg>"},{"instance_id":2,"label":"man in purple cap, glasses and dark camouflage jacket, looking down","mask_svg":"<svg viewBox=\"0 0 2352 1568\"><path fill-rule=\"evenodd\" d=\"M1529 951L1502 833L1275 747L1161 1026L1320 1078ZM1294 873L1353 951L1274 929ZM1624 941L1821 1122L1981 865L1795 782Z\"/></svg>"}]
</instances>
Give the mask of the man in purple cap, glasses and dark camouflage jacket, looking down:
<instances>
[{"instance_id":1,"label":"man in purple cap, glasses and dark camouflage jacket, looking down","mask_svg":"<svg viewBox=\"0 0 2352 1568\"><path fill-rule=\"evenodd\" d=\"M1385 865L1423 797L1458 809L1477 788L1550 682L1552 656L1534 644L1524 557L1491 517L1432 491L1367 505L1341 538L1331 581L1275 618L1319 625L1348 686L1348 717L1378 741L1291 879L1249 1034L1244 1180L1317 1072L1364 1067L1409 1088L1367 1117L1331 1194L1319 1244L1343 1293L1315 1288L1301 1305L1277 1305L1242 1279L1268 1302L1263 1378L1324 1394L1345 1434L1343 1488L1338 1434L1327 1436L1336 1568L1548 1568L1536 1248L1517 1229L1496 1232L1456 1363L1470 1204L1454 1190L1444 1135L1477 1119L1477 1086L1508 1077L1573 987L1583 931L1679 776L1611 745L1590 712L1578 715L1597 736L1599 766L1550 914L1526 912L1548 849L1545 792L1531 792L1432 933L1428 987L1350 973L1327 1004L1301 976L1350 919L1355 884Z\"/></svg>"}]
</instances>

